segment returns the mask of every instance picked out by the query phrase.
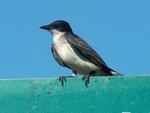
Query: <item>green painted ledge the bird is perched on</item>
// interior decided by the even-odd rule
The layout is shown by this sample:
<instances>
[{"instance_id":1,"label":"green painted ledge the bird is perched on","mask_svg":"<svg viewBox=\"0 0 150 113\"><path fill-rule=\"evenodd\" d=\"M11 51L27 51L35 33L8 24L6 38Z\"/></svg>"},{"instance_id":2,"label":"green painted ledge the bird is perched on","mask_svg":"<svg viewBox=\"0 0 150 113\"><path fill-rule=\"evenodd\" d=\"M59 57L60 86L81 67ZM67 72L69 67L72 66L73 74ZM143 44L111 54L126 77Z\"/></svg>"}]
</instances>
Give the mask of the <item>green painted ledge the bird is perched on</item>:
<instances>
[{"instance_id":1,"label":"green painted ledge the bird is perched on","mask_svg":"<svg viewBox=\"0 0 150 113\"><path fill-rule=\"evenodd\" d=\"M150 76L0 80L0 113L150 113Z\"/></svg>"}]
</instances>

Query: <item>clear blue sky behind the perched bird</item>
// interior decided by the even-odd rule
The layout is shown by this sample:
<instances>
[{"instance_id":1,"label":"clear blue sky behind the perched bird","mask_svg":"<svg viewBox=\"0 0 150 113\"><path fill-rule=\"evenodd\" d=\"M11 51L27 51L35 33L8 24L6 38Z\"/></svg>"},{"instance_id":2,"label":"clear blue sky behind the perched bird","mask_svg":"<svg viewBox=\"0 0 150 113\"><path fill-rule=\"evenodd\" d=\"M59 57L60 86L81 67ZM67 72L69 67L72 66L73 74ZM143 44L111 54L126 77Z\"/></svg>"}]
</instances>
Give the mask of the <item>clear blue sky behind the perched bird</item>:
<instances>
[{"instance_id":1,"label":"clear blue sky behind the perched bird","mask_svg":"<svg viewBox=\"0 0 150 113\"><path fill-rule=\"evenodd\" d=\"M70 75L52 57L50 33L62 19L107 65L150 75L150 0L0 0L0 78Z\"/></svg>"}]
</instances>

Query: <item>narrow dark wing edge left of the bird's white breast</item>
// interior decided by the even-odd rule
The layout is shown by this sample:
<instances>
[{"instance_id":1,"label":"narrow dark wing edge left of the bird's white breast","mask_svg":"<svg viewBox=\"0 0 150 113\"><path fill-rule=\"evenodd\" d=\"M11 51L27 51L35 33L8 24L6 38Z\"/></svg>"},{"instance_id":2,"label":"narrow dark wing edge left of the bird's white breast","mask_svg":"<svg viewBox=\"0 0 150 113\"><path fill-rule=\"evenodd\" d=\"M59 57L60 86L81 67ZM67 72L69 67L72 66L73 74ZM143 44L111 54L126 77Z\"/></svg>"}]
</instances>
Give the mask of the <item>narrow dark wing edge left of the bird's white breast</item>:
<instances>
[{"instance_id":1,"label":"narrow dark wing edge left of the bird's white breast","mask_svg":"<svg viewBox=\"0 0 150 113\"><path fill-rule=\"evenodd\" d=\"M51 46L51 51L52 51L54 59L57 61L58 64L60 64L63 67L68 67L63 63L62 59L59 57L59 55L54 47L54 44L52 44L52 46Z\"/></svg>"}]
</instances>

